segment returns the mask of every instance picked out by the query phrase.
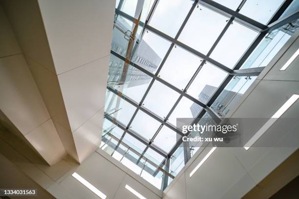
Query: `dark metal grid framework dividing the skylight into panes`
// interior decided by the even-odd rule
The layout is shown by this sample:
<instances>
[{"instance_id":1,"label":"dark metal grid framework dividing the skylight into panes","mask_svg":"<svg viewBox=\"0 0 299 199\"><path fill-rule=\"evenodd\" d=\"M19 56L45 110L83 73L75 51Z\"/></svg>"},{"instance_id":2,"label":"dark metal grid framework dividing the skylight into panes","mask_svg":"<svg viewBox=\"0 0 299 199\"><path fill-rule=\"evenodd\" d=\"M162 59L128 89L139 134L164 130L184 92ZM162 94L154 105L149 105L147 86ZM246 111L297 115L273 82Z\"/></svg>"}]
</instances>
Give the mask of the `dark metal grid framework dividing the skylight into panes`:
<instances>
[{"instance_id":1,"label":"dark metal grid framework dividing the skylight into panes","mask_svg":"<svg viewBox=\"0 0 299 199\"><path fill-rule=\"evenodd\" d=\"M118 8L115 9L116 15L123 16L131 22L136 22L136 19L134 19L133 17L129 16L128 14L126 14L126 13L124 13L120 10L120 7L121 7L120 5L121 5L122 1L123 0L120 1L120 4L119 4ZM152 80L149 83L149 86L148 86L147 90L145 91L145 93L144 93L144 95L143 95L143 97L142 97L142 99L139 103L132 100L132 99L130 99L124 93L121 93L120 91L108 86L107 87L108 90L110 90L114 94L120 96L122 99L126 100L128 103L130 103L131 105L136 107L136 110L135 110L134 114L132 115L132 117L131 117L131 119L130 119L127 126L122 124L120 121L118 121L116 118L112 117L111 115L107 115L106 118L109 121L115 123L118 127L120 127L124 131L121 138L119 139L118 146L121 143L122 139L124 138L125 134L128 133L128 134L132 135L137 140L139 140L140 142L142 142L143 144L146 145L146 148L143 151L143 153L142 153L141 157L139 158L139 160L146 153L147 149L151 148L152 150L154 150L155 152L157 152L158 154L160 154L160 155L162 155L166 158L161 164L166 165L167 166L166 168L169 169L170 158L174 154L174 152L177 150L177 148L182 144L182 140L179 139L178 142L173 146L173 148L171 149L171 151L168 154L164 150L160 149L158 146L153 144L153 141L154 141L155 137L157 136L157 134L160 132L161 128L164 125L169 127L171 130L175 131L176 133L179 133L180 135L183 135L183 133L181 131L177 130L175 126L173 126L171 123L168 122L168 118L170 117L171 113L174 111L174 109L176 108L176 106L178 105L180 100L183 98L183 96L187 97L188 99L192 100L193 102L195 102L196 104L200 105L203 108L202 111L200 111L198 113L196 118L194 118L192 124L196 124L206 112L208 112L210 114L210 116L214 119L214 121L216 123L220 123L221 118L219 118L217 116L217 114L215 114L214 111L212 111L211 108L210 108L211 105L214 103L215 99L220 95L220 93L224 90L224 88L228 85L228 83L232 80L232 78L234 76L257 76L263 70L264 67L247 68L247 69L239 69L239 68L244 64L244 62L251 55L251 53L255 50L256 46L262 41L262 39L264 38L264 36L267 33L271 32L272 30L274 30L274 29L276 29L276 28L278 28L278 27L280 27L284 24L290 23L293 20L298 19L299 18L299 11L297 11L295 13L292 13L291 15L288 15L288 16L284 17L283 19L278 20L279 17L282 15L282 13L286 10L286 8L293 1L293 0L285 0L282 3L282 5L278 8L278 10L274 14L274 16L271 18L271 20L268 22L268 24L264 25L264 24L261 24L259 22L256 22L255 20L252 20L252 19L250 19L250 18L248 18L244 15L239 14L239 11L242 8L242 6L244 5L246 0L242 0L240 5L238 6L238 8L235 11L231 10L231 9L229 9L229 8L219 4L219 3L216 3L212 0L194 0L190 11L187 14L187 16L186 16L184 22L182 23L181 27L179 28L176 36L174 38L171 38L170 36L166 35L165 33L160 32L159 30L157 30L157 29L155 29L155 28L153 28L149 25L149 21L150 21L152 15L154 13L154 10L155 10L155 8L158 4L158 1L159 0L154 1L153 5L152 5L152 8L150 9L150 12L149 12L149 15L147 17L146 22L145 23L140 22L139 25L144 26L142 36L143 36L145 30L147 29L147 30L157 34L158 36L168 40L169 42L171 42L170 48L168 49L165 57L163 58L160 66L158 67L155 74L150 73L149 71L147 71L143 67L138 66L137 64L131 62L127 58L123 57L122 55L119 55L118 53L111 50L112 55L118 57L119 59L122 59L123 61L127 62L131 66L134 66L137 69L141 70L142 72L146 73L147 75L152 77ZM220 35L218 36L218 38L216 39L216 41L212 45L211 49L207 53L207 55L204 55L204 54L196 51L195 49L191 48L190 46L188 46L186 44L183 44L183 43L181 43L177 40L179 35L181 34L182 30L184 29L187 21L189 20L190 16L192 15L193 10L195 9L195 7L197 6L198 3L205 6L205 7L210 8L211 10L214 10L214 11L230 18L230 20L227 22L224 29L221 31ZM233 69L230 69L229 67L224 66L224 65L218 63L217 61L213 60L212 58L210 58L210 55L212 54L214 48L219 43L220 39L222 38L222 36L227 31L227 29L229 28L229 26L231 25L231 23L233 21L239 22L239 23L241 23L241 24L243 24L243 25L245 25L245 26L247 26L251 29L254 29L254 30L258 31L259 34L256 37L255 41L250 45L250 47L246 50L246 52L239 59L237 64L233 67ZM202 59L201 64L198 66L198 68L195 71L195 73L193 74L191 80L189 81L189 83L187 84L187 86L183 90L172 86L170 83L168 83L167 81L165 81L165 80L163 80L159 77L159 72L161 71L165 61L167 60L172 48L175 47L175 45L182 47L183 49L191 52L192 54L194 54L194 55L196 55L196 56L198 56ZM214 92L214 95L211 97L211 99L208 101L208 103L204 104L204 103L200 102L199 100L197 100L196 98L192 97L191 95L187 94L187 89L190 87L190 85L192 84L192 82L195 79L196 75L199 73L199 71L201 70L202 66L205 64L206 61L208 61L211 64L213 64L214 66L226 71L228 73L228 76L222 82L222 84L219 86L219 88L216 89L216 91ZM169 113L167 114L167 116L165 118L161 118L160 116L158 116L154 112L152 112L152 111L150 111L147 108L142 106L146 96L149 93L150 88L152 87L152 85L154 83L154 81L159 81L162 84L164 84L165 86L175 90L176 92L178 92L180 94L180 96L178 97L178 99L176 100L173 107L171 108L171 110L169 111ZM136 116L136 114L139 110L144 111L149 116L151 116L152 118L154 118L155 120L157 120L158 122L161 123L160 127L154 133L154 135L152 136L152 138L149 141L147 139L145 139L144 137L142 137L140 134L138 134L138 133L136 133L136 132L134 132L133 130L130 129L130 125L131 125L132 121L134 120L134 118L135 118L135 116ZM190 132L188 132L187 134L184 134L184 136L187 136L189 133ZM190 146L187 146L186 144L187 143L185 143L185 145L184 145L185 164L191 158ZM116 147L118 147L118 146L116 146ZM164 178L163 178L163 182L162 182L162 189L165 189L167 187L167 185L168 185L168 176L165 175Z\"/></svg>"}]
</instances>

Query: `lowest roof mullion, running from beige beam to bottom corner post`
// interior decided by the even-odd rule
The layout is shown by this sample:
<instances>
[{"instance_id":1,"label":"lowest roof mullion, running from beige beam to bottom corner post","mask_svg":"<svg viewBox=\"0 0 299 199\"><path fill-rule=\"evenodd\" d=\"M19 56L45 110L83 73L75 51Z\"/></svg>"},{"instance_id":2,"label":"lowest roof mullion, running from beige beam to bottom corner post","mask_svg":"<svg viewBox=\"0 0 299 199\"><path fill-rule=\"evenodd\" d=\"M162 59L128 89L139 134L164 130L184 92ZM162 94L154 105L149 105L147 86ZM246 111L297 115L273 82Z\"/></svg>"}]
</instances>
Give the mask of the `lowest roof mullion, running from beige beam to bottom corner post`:
<instances>
[{"instance_id":1,"label":"lowest roof mullion, running from beige beam to bottom corner post","mask_svg":"<svg viewBox=\"0 0 299 199\"><path fill-rule=\"evenodd\" d=\"M138 133L135 133L135 132L131 131L130 129L127 129L126 126L124 124L122 124L120 121L118 121L116 118L108 116L107 119L110 122L115 123L119 128L121 128L123 131L130 134L134 138L136 138L138 141L140 141L144 145L149 146L149 148L151 148L152 150L154 150L158 154L162 155L163 157L167 157L166 152L164 152L162 149L158 148L156 145L149 145L148 140L146 138L142 137Z\"/></svg>"}]
</instances>

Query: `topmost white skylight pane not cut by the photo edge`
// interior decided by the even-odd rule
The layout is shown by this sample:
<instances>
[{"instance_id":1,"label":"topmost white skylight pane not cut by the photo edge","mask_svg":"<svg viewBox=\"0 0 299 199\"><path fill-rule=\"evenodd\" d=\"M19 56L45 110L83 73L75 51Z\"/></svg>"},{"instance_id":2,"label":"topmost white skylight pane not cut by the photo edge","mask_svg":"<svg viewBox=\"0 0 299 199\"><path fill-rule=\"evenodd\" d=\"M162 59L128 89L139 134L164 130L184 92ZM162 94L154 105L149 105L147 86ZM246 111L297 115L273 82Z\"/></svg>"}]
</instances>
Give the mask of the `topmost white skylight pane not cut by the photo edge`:
<instances>
[{"instance_id":1,"label":"topmost white skylight pane not cut by the photo edge","mask_svg":"<svg viewBox=\"0 0 299 199\"><path fill-rule=\"evenodd\" d=\"M207 54L228 20L229 18L199 5L192 12L178 40Z\"/></svg>"}]
</instances>

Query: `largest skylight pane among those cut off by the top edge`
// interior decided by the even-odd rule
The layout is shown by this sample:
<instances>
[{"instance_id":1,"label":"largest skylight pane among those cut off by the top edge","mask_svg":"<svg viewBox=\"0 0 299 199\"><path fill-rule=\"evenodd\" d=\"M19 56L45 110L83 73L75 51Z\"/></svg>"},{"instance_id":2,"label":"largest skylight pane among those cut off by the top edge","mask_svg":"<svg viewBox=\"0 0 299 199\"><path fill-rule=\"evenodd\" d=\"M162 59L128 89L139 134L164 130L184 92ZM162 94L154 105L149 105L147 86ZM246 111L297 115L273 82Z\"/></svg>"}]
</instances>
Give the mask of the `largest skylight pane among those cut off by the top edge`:
<instances>
[{"instance_id":1,"label":"largest skylight pane among those cut off by the top edge","mask_svg":"<svg viewBox=\"0 0 299 199\"><path fill-rule=\"evenodd\" d=\"M192 0L159 0L149 25L174 38L193 2Z\"/></svg>"}]
</instances>

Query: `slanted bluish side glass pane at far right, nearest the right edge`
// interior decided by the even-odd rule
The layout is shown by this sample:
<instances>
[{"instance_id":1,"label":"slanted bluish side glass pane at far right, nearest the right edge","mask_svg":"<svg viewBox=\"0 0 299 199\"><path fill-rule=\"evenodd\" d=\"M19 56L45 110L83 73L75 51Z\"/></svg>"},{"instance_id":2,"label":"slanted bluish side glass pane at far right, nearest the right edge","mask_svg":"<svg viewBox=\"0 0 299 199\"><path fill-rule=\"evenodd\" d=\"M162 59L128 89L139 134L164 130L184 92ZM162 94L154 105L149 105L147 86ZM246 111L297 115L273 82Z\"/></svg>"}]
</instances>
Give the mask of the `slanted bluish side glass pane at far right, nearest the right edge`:
<instances>
[{"instance_id":1,"label":"slanted bluish side glass pane at far right, nearest the right edge","mask_svg":"<svg viewBox=\"0 0 299 199\"><path fill-rule=\"evenodd\" d=\"M286 24L267 34L240 69L267 66L297 29Z\"/></svg>"}]
</instances>

